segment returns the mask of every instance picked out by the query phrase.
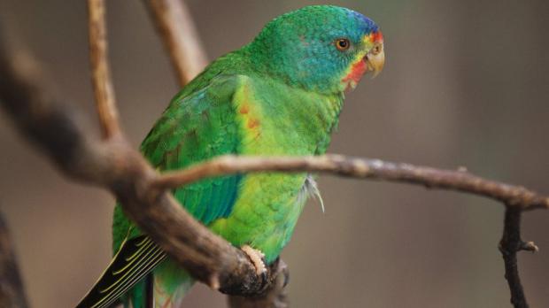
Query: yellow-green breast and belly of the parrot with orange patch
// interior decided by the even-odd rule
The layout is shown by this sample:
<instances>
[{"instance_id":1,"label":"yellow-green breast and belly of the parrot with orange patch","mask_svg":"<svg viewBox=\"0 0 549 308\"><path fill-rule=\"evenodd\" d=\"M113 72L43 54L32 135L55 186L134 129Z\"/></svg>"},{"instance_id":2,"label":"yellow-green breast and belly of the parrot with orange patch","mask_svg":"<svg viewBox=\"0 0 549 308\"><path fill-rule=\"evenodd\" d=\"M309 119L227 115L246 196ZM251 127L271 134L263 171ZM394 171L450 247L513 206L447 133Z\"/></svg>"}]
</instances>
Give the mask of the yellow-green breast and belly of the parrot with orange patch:
<instances>
[{"instance_id":1,"label":"yellow-green breast and belly of the parrot with orange patch","mask_svg":"<svg viewBox=\"0 0 549 308\"><path fill-rule=\"evenodd\" d=\"M321 96L272 81L251 81L236 92L240 155L323 154L341 106ZM233 212L211 225L237 247L245 244L274 261L290 241L306 201L306 173L252 173L240 183ZM306 195L308 196L308 195Z\"/></svg>"}]
</instances>

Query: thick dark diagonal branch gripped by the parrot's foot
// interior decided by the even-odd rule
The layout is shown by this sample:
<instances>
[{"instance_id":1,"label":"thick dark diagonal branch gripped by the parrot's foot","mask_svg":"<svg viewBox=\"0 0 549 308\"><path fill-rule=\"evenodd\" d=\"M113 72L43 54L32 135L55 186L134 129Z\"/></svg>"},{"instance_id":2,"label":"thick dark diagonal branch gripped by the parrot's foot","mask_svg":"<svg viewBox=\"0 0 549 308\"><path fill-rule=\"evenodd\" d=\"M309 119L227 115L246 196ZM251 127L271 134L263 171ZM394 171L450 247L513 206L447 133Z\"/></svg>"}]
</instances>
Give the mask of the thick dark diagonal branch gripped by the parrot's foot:
<instances>
[{"instance_id":1,"label":"thick dark diagonal branch gripped by the parrot's foot","mask_svg":"<svg viewBox=\"0 0 549 308\"><path fill-rule=\"evenodd\" d=\"M2 41L0 40L0 43ZM19 131L78 181L110 189L124 211L199 281L228 294L261 293L277 273L259 276L247 255L193 219L169 192L151 187L158 174L123 136L97 140L0 49L0 102Z\"/></svg>"}]
</instances>

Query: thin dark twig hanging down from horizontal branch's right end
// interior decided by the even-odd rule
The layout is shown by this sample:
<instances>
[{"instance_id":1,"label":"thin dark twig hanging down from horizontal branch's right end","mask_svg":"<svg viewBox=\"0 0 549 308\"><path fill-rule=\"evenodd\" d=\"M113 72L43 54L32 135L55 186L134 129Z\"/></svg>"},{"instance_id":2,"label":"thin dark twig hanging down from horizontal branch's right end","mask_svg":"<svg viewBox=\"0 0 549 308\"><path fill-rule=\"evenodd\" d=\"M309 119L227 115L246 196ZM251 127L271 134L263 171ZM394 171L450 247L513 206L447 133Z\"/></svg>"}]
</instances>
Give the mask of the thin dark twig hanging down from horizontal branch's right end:
<instances>
[{"instance_id":1,"label":"thin dark twig hanging down from horizontal branch's right end","mask_svg":"<svg viewBox=\"0 0 549 308\"><path fill-rule=\"evenodd\" d=\"M499 242L499 251L501 251L505 263L505 278L509 284L511 303L514 308L528 308L521 278L519 277L516 253L520 250L537 251L537 246L534 243L522 242L521 213L520 209L506 208L503 236L501 242Z\"/></svg>"}]
</instances>

